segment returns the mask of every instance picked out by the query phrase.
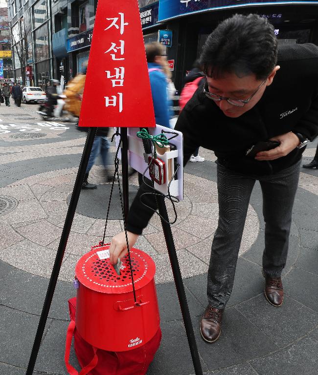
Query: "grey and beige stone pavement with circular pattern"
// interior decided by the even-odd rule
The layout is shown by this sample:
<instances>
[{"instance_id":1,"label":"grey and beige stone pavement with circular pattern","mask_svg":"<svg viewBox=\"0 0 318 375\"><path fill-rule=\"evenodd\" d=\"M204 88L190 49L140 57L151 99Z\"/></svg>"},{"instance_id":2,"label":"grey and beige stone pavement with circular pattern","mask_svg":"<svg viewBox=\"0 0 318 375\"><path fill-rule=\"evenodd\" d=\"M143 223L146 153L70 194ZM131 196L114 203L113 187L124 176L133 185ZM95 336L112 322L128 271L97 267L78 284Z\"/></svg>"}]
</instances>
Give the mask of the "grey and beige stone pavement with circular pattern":
<instances>
[{"instance_id":1,"label":"grey and beige stone pavement with circular pattern","mask_svg":"<svg viewBox=\"0 0 318 375\"><path fill-rule=\"evenodd\" d=\"M18 124L20 118L30 114L29 123L33 126L40 121L33 114L36 109L34 105L21 108L1 105L0 125L6 124L5 117ZM10 133L0 131L1 375L25 374L86 135L72 124L42 126L33 133L27 128L12 128ZM39 138L28 138L40 133ZM304 163L312 160L316 145L317 142L305 150ZM200 155L205 157L204 163L188 163L185 168L185 199L177 205L178 221L173 234L205 374L317 375L318 170L301 170L281 308L271 306L263 294L264 221L260 187L255 186L222 335L216 343L206 344L198 325L207 303L206 272L218 203L215 156L208 150L200 150ZM105 212L97 203L101 195L107 199L109 184L105 180L103 168L94 166L90 181L98 184L98 188L81 193L35 374L67 374L64 365L67 301L76 294L71 280L79 257L103 234ZM130 184L131 191L136 191L136 177L130 179ZM111 215L108 238L122 229L115 205ZM193 374L157 217L151 220L137 246L156 263L163 333L148 375ZM77 364L74 353L71 362Z\"/></svg>"}]
</instances>

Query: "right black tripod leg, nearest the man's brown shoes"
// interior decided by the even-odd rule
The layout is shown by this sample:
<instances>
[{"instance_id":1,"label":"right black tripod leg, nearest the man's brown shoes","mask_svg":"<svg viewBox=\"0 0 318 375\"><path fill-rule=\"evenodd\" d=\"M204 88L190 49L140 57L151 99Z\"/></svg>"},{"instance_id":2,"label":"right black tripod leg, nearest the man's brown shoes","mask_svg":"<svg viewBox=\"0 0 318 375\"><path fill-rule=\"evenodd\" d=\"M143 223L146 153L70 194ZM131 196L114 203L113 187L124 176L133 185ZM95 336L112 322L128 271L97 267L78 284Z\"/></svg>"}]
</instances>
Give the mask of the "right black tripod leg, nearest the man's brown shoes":
<instances>
[{"instance_id":1,"label":"right black tripod leg, nearest the man's brown shoes","mask_svg":"<svg viewBox=\"0 0 318 375\"><path fill-rule=\"evenodd\" d=\"M156 200L157 200L157 205L159 209L159 214L168 222L169 221L168 213L167 213L167 208L164 202L164 198L162 196L156 196ZM186 300L186 295L185 295L184 286L182 282L182 276L180 272L179 261L178 261L178 257L176 253L175 244L173 241L171 227L168 223L166 223L162 219L161 219L161 225L163 229L164 238L167 244L172 273L173 273L173 277L175 280L180 308L182 312L185 332L187 335L190 352L192 356L194 371L196 375L203 375L198 347L197 347L196 339L195 339L194 332L193 332L190 312L189 312L188 303Z\"/></svg>"}]
</instances>

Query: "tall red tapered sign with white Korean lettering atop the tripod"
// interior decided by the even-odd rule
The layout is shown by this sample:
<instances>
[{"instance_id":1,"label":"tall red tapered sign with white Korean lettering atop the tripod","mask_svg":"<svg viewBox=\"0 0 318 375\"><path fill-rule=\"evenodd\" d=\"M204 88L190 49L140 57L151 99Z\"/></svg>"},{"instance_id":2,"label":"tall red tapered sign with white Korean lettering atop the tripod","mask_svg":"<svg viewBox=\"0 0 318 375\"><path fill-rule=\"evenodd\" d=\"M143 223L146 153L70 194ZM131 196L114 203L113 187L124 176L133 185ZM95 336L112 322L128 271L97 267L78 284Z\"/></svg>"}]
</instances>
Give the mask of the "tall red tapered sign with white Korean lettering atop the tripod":
<instances>
[{"instance_id":1,"label":"tall red tapered sign with white Korean lettering atop the tripod","mask_svg":"<svg viewBox=\"0 0 318 375\"><path fill-rule=\"evenodd\" d=\"M99 0L79 126L156 126L137 0Z\"/></svg>"}]
</instances>

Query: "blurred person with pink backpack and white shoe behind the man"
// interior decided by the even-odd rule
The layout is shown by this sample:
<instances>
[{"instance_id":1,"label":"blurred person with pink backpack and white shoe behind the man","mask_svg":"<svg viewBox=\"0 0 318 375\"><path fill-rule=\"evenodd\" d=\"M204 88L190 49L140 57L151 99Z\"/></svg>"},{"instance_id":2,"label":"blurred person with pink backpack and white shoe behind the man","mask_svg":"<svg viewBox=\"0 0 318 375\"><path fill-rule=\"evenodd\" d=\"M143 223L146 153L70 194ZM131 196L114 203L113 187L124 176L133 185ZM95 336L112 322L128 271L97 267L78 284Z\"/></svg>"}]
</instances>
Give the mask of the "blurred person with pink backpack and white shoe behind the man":
<instances>
[{"instance_id":1,"label":"blurred person with pink backpack and white shoe behind the man","mask_svg":"<svg viewBox=\"0 0 318 375\"><path fill-rule=\"evenodd\" d=\"M205 75L202 71L200 61L196 60L193 64L193 68L190 73L184 79L184 87L182 88L179 106L180 112L184 108L185 104L192 98L193 94L197 89L204 84ZM204 158L199 155L199 147L194 151L190 157L190 162L204 162Z\"/></svg>"}]
</instances>

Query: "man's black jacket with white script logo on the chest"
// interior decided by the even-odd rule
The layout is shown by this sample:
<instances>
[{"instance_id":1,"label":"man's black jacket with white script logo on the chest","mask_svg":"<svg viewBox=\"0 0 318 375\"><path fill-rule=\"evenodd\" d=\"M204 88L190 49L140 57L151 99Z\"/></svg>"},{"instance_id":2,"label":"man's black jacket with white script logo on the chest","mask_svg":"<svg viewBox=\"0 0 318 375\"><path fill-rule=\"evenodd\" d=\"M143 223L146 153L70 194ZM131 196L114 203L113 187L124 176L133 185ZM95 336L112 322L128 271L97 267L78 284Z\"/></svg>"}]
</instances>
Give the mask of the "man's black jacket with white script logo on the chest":
<instances>
[{"instance_id":1,"label":"man's black jacket with white script logo on the chest","mask_svg":"<svg viewBox=\"0 0 318 375\"><path fill-rule=\"evenodd\" d=\"M213 150L218 163L234 172L257 176L270 175L294 165L304 148L273 161L257 161L245 156L258 141L265 141L289 131L301 133L311 141L318 134L318 47L314 44L288 44L279 47L277 71L260 101L237 118L229 118L206 98L202 87L183 108L176 130L183 133L183 160L187 163L194 150L202 146ZM152 211L139 196L129 211L127 229L141 234ZM147 200L148 199L148 200ZM156 207L151 196L147 204Z\"/></svg>"}]
</instances>

